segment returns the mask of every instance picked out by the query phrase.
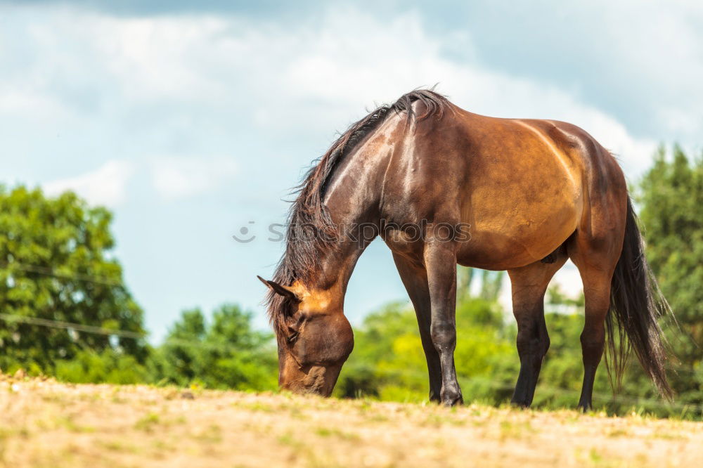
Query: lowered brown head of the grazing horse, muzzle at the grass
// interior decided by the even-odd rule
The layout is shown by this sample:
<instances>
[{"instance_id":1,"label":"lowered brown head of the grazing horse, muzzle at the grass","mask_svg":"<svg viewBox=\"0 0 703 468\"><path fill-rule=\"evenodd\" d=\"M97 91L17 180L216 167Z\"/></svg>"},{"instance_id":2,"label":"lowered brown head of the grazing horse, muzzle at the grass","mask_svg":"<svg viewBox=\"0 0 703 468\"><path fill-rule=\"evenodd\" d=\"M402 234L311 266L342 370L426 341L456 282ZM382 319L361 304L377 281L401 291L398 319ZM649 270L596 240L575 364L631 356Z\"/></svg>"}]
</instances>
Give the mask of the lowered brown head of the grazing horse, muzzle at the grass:
<instances>
[{"instance_id":1,"label":"lowered brown head of the grazing horse, muzzle at the grass","mask_svg":"<svg viewBox=\"0 0 703 468\"><path fill-rule=\"evenodd\" d=\"M259 277L287 301L274 316L278 342L278 385L299 393L330 396L342 365L354 348L354 333L342 313L342 300L330 290L309 290Z\"/></svg>"}]
</instances>

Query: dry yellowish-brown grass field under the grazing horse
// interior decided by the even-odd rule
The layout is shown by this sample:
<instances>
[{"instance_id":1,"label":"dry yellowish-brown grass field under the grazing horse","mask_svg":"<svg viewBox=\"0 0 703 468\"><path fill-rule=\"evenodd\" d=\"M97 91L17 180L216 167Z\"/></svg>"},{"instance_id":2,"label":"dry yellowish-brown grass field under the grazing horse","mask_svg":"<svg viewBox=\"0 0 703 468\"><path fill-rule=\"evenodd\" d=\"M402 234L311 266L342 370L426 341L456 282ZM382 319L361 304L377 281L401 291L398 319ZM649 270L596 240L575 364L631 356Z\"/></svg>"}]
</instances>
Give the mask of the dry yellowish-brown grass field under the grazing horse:
<instances>
[{"instance_id":1,"label":"dry yellowish-brown grass field under the grazing horse","mask_svg":"<svg viewBox=\"0 0 703 468\"><path fill-rule=\"evenodd\" d=\"M703 467L703 423L0 377L1 467Z\"/></svg>"}]
</instances>

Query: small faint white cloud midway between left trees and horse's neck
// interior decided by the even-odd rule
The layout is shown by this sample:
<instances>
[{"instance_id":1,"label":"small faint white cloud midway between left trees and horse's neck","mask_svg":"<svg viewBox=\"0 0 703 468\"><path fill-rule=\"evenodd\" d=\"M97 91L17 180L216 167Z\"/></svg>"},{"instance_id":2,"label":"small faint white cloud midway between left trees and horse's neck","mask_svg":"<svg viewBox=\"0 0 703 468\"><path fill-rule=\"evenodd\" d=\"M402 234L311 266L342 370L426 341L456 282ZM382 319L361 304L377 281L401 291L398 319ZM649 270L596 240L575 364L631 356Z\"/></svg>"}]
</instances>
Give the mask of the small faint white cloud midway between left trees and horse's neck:
<instances>
[{"instance_id":1,"label":"small faint white cloud midway between left trees and horse's neck","mask_svg":"<svg viewBox=\"0 0 703 468\"><path fill-rule=\"evenodd\" d=\"M237 171L231 157L157 157L151 162L152 180L165 200L192 197L219 188Z\"/></svg>"}]
</instances>

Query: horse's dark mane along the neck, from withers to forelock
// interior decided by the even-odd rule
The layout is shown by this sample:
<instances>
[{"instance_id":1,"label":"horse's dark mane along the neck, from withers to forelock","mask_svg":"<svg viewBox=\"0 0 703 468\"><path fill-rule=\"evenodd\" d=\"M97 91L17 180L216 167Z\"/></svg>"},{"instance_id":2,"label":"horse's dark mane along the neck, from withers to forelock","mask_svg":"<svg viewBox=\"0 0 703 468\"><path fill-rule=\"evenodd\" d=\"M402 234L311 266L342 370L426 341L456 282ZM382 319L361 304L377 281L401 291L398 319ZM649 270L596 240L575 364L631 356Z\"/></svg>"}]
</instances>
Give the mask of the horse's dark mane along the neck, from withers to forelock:
<instances>
[{"instance_id":1,"label":"horse's dark mane along the neck, from withers to forelock","mask_svg":"<svg viewBox=\"0 0 703 468\"><path fill-rule=\"evenodd\" d=\"M425 105L422 114L415 115L413 102ZM302 183L296 187L298 193L288 214L288 231L285 252L278 262L273 281L290 286L295 281L309 283L316 273L320 252L333 248L337 227L330 219L323 199L325 189L332 178L335 168L344 156L371 131L385 121L391 112L406 112L408 124L413 117L419 122L432 115L441 117L449 100L433 89L416 89L404 94L392 105L381 105L366 117L349 126L325 154L313 162ZM290 300L270 291L266 297L269 306L269 320L276 330L283 327L283 318L290 313Z\"/></svg>"}]
</instances>

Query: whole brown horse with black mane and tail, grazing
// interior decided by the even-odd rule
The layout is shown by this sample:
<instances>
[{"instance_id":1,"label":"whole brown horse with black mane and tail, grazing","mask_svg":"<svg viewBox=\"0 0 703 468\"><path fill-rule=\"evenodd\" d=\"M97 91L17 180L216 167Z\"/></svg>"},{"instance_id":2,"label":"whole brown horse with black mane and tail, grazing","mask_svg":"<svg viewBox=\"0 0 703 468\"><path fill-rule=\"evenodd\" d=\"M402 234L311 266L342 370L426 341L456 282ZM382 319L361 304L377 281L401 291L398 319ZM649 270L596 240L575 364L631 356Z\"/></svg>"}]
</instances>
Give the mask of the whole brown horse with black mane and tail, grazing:
<instances>
[{"instance_id":1,"label":"whole brown horse with black mane and tail, grazing","mask_svg":"<svg viewBox=\"0 0 703 468\"><path fill-rule=\"evenodd\" d=\"M463 401L453 358L460 264L510 275L520 355L512 402L530 405L549 347L544 294L567 258L586 296L579 406L591 408L606 334L616 379L632 347L671 395L657 325L666 301L643 256L625 178L579 127L484 117L430 90L353 124L306 176L275 276L259 278L270 288L281 387L332 392L354 346L347 282L376 235L415 306L430 399Z\"/></svg>"}]
</instances>

